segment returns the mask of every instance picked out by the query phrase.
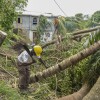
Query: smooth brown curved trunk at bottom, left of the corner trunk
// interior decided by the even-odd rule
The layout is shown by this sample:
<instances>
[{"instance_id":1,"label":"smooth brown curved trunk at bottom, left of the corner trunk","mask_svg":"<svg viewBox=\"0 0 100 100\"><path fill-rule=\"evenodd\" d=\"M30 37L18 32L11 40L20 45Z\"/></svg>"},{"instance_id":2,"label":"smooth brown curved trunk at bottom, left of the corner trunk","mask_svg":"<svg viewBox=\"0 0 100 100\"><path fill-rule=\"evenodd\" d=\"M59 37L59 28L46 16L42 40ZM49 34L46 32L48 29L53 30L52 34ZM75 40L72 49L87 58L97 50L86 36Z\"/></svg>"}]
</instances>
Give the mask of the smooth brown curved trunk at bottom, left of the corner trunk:
<instances>
[{"instance_id":1,"label":"smooth brown curved trunk at bottom, left of the corner trunk","mask_svg":"<svg viewBox=\"0 0 100 100\"><path fill-rule=\"evenodd\" d=\"M89 85L85 83L79 91L71 95L61 97L57 100L82 100L83 97L89 92L89 90L90 90Z\"/></svg>"}]
</instances>

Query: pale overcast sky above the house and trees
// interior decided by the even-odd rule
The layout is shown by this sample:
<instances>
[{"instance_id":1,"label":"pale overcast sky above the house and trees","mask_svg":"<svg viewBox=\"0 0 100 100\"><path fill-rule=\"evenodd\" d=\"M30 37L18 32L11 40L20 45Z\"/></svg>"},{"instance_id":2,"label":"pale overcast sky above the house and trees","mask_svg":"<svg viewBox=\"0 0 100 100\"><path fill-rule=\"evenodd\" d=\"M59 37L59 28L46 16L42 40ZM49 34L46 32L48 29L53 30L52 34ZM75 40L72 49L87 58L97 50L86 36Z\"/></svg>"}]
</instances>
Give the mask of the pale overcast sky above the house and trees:
<instances>
[{"instance_id":1,"label":"pale overcast sky above the house and trees","mask_svg":"<svg viewBox=\"0 0 100 100\"><path fill-rule=\"evenodd\" d=\"M74 16L77 13L93 14L100 10L100 0L28 0L28 5L25 8L27 13L44 14L52 13L53 15Z\"/></svg>"}]
</instances>

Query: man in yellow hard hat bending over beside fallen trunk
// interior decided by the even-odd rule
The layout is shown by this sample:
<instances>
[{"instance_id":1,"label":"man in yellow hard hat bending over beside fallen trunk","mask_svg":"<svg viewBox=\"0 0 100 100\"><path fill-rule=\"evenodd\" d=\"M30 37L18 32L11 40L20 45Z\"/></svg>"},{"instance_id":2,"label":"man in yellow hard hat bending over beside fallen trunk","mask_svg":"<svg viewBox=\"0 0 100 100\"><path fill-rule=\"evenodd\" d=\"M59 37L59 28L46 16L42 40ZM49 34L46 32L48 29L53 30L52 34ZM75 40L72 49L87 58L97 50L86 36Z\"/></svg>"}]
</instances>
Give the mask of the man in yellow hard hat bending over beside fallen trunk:
<instances>
[{"instance_id":1,"label":"man in yellow hard hat bending over beside fallen trunk","mask_svg":"<svg viewBox=\"0 0 100 100\"><path fill-rule=\"evenodd\" d=\"M39 45L34 45L32 49L28 49L27 46L23 45L25 51L23 51L18 56L17 68L19 72L19 89L26 90L29 86L30 81L30 66L33 63L36 63L38 59L46 68L47 66L41 59L42 48Z\"/></svg>"}]
</instances>

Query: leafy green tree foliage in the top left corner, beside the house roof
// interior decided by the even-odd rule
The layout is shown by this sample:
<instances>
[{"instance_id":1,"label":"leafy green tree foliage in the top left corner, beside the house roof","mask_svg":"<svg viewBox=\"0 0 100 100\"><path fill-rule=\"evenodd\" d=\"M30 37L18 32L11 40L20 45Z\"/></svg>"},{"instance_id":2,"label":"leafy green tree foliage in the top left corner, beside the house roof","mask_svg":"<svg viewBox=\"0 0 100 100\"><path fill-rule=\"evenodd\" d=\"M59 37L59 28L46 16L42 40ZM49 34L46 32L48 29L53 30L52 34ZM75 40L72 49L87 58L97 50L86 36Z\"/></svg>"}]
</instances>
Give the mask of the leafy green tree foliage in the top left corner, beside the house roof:
<instances>
[{"instance_id":1,"label":"leafy green tree foliage in the top left corner, beside the house roof","mask_svg":"<svg viewBox=\"0 0 100 100\"><path fill-rule=\"evenodd\" d=\"M27 0L0 0L0 27L4 30L11 29L18 10L22 10L26 3Z\"/></svg>"}]
</instances>

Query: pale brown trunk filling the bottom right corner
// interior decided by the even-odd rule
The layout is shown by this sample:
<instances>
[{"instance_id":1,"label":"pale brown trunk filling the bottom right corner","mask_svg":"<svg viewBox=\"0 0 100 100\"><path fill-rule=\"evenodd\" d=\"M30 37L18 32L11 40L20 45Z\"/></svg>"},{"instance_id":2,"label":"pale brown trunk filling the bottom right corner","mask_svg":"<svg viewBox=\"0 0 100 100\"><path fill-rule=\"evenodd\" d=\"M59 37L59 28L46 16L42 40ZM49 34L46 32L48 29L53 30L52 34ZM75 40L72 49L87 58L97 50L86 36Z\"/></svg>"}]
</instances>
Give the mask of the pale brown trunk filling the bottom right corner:
<instances>
[{"instance_id":1,"label":"pale brown trunk filling the bottom right corner","mask_svg":"<svg viewBox=\"0 0 100 100\"><path fill-rule=\"evenodd\" d=\"M100 77L83 100L100 100Z\"/></svg>"}]
</instances>

